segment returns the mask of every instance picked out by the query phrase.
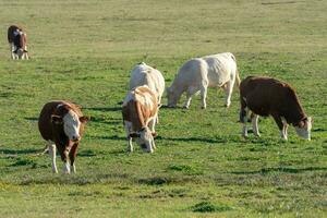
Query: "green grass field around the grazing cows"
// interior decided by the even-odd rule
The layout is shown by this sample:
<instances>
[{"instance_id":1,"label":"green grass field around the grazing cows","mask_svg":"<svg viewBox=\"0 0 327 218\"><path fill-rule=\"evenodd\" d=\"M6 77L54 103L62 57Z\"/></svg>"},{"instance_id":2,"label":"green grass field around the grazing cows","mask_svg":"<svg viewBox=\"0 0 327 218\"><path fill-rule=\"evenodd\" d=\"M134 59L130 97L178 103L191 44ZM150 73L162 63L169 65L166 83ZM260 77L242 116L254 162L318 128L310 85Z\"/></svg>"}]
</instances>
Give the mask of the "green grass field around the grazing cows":
<instances>
[{"instance_id":1,"label":"green grass field around the grazing cows","mask_svg":"<svg viewBox=\"0 0 327 218\"><path fill-rule=\"evenodd\" d=\"M0 0L0 217L326 217L327 1ZM10 60L7 28L25 27L28 61ZM312 141L272 119L241 137L239 94L209 89L189 110L161 109L155 154L126 154L119 102L140 61L170 85L192 57L230 51L240 75L296 89ZM53 175L38 113L51 99L92 117L77 174ZM183 98L184 100L184 98ZM166 102L166 99L165 101ZM58 158L61 172L61 161Z\"/></svg>"}]
</instances>

